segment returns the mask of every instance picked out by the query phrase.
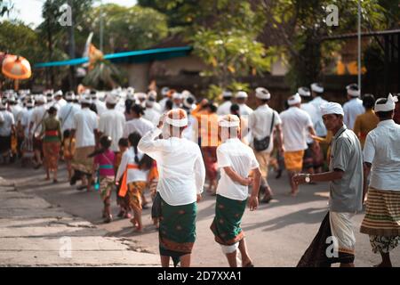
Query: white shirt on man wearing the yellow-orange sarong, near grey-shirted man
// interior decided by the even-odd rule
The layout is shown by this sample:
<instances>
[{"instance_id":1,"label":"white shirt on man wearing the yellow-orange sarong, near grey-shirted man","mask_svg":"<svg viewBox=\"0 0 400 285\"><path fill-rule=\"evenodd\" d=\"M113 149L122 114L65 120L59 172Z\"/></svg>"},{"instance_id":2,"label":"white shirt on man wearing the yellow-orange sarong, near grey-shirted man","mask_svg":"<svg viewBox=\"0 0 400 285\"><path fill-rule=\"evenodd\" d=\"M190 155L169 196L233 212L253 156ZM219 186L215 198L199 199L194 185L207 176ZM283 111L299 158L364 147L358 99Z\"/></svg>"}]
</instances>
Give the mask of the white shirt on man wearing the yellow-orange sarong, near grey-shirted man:
<instances>
[{"instance_id":1,"label":"white shirt on man wearing the yellow-orange sarong, near grey-shirted man","mask_svg":"<svg viewBox=\"0 0 400 285\"><path fill-rule=\"evenodd\" d=\"M308 113L300 108L290 107L280 116L284 133L284 151L307 150L307 131L309 126L313 126Z\"/></svg>"}]
</instances>

